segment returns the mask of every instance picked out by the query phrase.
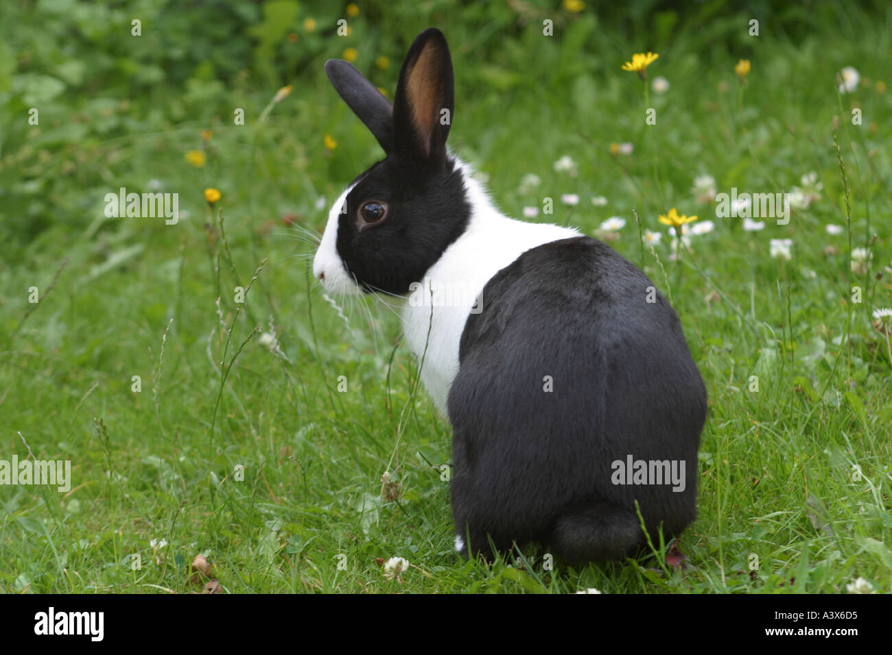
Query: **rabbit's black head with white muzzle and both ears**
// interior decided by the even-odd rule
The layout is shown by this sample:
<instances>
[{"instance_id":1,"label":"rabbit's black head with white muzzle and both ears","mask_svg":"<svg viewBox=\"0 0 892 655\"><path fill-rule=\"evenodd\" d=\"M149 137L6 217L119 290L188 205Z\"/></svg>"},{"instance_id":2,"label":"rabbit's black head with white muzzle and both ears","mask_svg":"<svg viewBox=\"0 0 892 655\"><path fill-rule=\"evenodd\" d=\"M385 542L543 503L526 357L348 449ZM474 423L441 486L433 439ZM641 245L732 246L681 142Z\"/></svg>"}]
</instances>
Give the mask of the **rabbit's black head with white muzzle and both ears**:
<instances>
[{"instance_id":1,"label":"rabbit's black head with white muzzle and both ears","mask_svg":"<svg viewBox=\"0 0 892 655\"><path fill-rule=\"evenodd\" d=\"M464 169L450 158L454 82L446 39L425 29L403 61L394 102L347 61L326 74L386 157L331 209L313 273L329 291L405 294L470 217Z\"/></svg>"}]
</instances>

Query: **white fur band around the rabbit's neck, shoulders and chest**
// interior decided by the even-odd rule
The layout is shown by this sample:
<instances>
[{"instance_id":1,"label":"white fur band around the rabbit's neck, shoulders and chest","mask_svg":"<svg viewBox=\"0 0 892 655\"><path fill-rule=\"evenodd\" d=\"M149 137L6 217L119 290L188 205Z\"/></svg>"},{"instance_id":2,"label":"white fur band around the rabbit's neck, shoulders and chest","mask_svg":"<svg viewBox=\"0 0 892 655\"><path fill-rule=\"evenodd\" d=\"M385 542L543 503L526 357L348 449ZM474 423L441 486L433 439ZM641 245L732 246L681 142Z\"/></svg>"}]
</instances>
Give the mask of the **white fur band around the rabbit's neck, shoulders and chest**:
<instances>
[{"instance_id":1,"label":"white fur band around the rabbit's neck, shoulders and chest","mask_svg":"<svg viewBox=\"0 0 892 655\"><path fill-rule=\"evenodd\" d=\"M466 180L470 179L470 171ZM559 225L524 223L502 216L473 179L467 182L473 209L467 231L428 269L414 296L403 303L403 333L421 365L421 380L434 404L447 413L450 385L458 373L458 344L475 299L486 282L526 250L581 236ZM485 295L480 311L486 311Z\"/></svg>"}]
</instances>

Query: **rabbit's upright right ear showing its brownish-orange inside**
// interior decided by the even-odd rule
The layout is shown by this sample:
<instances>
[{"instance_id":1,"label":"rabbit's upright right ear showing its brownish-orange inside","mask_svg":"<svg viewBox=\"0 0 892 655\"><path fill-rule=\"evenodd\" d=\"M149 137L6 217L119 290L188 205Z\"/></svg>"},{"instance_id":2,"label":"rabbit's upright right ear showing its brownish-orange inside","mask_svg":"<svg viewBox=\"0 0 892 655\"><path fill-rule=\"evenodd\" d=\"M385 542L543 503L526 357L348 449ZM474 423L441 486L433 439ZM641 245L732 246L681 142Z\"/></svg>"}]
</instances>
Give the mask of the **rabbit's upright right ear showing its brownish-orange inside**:
<instances>
[{"instance_id":1,"label":"rabbit's upright right ear showing its brownish-orange inside","mask_svg":"<svg viewBox=\"0 0 892 655\"><path fill-rule=\"evenodd\" d=\"M445 163L454 105L446 37L439 29L425 29L402 62L393 102L394 151L413 160Z\"/></svg>"}]
</instances>

